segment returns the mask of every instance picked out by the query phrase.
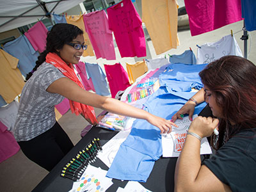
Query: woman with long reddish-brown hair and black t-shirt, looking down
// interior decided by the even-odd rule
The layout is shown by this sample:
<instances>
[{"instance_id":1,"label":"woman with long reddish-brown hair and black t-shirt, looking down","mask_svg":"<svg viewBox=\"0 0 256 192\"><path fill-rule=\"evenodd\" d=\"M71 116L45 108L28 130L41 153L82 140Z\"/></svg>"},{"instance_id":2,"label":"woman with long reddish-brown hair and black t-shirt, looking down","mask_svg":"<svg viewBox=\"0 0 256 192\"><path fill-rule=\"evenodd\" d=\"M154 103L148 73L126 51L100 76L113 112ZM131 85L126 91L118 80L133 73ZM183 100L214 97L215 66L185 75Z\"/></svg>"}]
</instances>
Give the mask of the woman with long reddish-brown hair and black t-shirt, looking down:
<instances>
[{"instance_id":1,"label":"woman with long reddish-brown hair and black t-shirt, looking down","mask_svg":"<svg viewBox=\"0 0 256 192\"><path fill-rule=\"evenodd\" d=\"M200 77L204 88L173 116L193 115L207 102L212 117L198 116L189 127L175 170L175 191L255 191L256 66L237 56L209 63ZM218 136L212 134L218 129ZM216 153L201 162L200 141L211 136Z\"/></svg>"}]
</instances>

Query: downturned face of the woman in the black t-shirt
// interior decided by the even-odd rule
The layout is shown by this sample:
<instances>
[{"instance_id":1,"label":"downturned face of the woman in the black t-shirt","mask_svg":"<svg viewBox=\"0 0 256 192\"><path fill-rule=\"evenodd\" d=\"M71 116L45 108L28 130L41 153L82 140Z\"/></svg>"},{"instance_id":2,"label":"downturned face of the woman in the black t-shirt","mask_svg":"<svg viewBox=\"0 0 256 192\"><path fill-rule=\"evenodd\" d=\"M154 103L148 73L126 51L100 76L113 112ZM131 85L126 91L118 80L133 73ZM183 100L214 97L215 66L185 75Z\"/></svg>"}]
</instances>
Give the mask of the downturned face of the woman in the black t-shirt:
<instances>
[{"instance_id":1,"label":"downturned face of the woman in the black t-shirt","mask_svg":"<svg viewBox=\"0 0 256 192\"><path fill-rule=\"evenodd\" d=\"M209 104L209 107L212 110L212 115L221 118L221 108L216 104L216 97L212 92L207 88L207 86L204 86L204 92L205 92L205 102Z\"/></svg>"}]
</instances>

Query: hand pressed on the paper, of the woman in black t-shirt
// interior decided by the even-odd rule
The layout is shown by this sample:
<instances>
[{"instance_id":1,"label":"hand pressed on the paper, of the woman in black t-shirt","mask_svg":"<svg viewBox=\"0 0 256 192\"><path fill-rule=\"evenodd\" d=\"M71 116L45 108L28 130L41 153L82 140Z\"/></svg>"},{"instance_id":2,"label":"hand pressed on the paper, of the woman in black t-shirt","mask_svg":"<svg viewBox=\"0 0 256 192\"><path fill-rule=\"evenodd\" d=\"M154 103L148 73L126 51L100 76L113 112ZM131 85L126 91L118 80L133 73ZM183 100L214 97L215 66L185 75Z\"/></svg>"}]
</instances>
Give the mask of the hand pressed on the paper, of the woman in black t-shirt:
<instances>
[{"instance_id":1,"label":"hand pressed on the paper, of the woman in black t-shirt","mask_svg":"<svg viewBox=\"0 0 256 192\"><path fill-rule=\"evenodd\" d=\"M175 122L175 120L177 120L177 118L179 119L183 119L180 115L184 115L184 114L189 114L189 120L193 120L192 116L193 113L195 111L195 102L192 102L191 100L189 100L188 102L186 102L186 104L184 104L184 106L182 106L182 108L179 109L179 111L177 111L177 113L175 113L172 116L172 122Z\"/></svg>"}]
</instances>

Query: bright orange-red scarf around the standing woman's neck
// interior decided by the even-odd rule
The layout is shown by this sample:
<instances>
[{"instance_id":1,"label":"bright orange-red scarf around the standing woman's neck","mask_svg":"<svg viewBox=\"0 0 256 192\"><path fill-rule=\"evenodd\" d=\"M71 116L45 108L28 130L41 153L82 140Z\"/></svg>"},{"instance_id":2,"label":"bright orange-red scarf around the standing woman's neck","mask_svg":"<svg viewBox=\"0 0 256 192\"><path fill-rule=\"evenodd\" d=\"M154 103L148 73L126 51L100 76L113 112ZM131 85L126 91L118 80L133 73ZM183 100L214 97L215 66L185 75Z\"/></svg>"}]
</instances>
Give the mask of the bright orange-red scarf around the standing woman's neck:
<instances>
[{"instance_id":1,"label":"bright orange-red scarf around the standing woman's neck","mask_svg":"<svg viewBox=\"0 0 256 192\"><path fill-rule=\"evenodd\" d=\"M72 81L74 81L76 84L78 84L84 90L83 84L77 78L77 76L74 72L74 67L71 63L69 63L67 65L67 63L65 63L65 61L61 60L61 58L60 58L60 56L58 56L58 54L53 53L53 52L49 52L47 54L45 61L47 63L51 63L54 67L58 68L58 70L60 70L60 72L64 76L66 76L69 79L71 79ZM70 104L70 109L71 109L72 113L76 113L76 115L79 115L82 113L85 118L90 119L92 124L97 123L95 111L92 106L87 106L85 104L81 104L74 100L69 100L69 104Z\"/></svg>"}]
</instances>

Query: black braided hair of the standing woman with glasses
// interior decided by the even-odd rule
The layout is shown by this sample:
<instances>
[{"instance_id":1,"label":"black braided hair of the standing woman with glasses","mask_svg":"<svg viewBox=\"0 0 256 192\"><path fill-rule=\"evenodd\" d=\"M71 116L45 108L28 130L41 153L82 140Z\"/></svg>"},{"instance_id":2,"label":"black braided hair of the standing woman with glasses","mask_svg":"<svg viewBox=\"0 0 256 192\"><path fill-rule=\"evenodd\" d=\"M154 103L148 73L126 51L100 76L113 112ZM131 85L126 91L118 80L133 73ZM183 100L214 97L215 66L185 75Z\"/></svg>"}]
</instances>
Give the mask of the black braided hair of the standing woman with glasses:
<instances>
[{"instance_id":1,"label":"black braided hair of the standing woman with glasses","mask_svg":"<svg viewBox=\"0 0 256 192\"><path fill-rule=\"evenodd\" d=\"M45 57L49 52L56 52L57 49L61 49L65 44L72 42L77 35L82 35L83 31L77 26L72 24L56 24L52 27L51 31L48 31L46 38L45 51L41 52L36 61L36 66L33 68L33 72L45 61ZM26 76L26 81L32 76L32 72L29 72Z\"/></svg>"}]
</instances>

